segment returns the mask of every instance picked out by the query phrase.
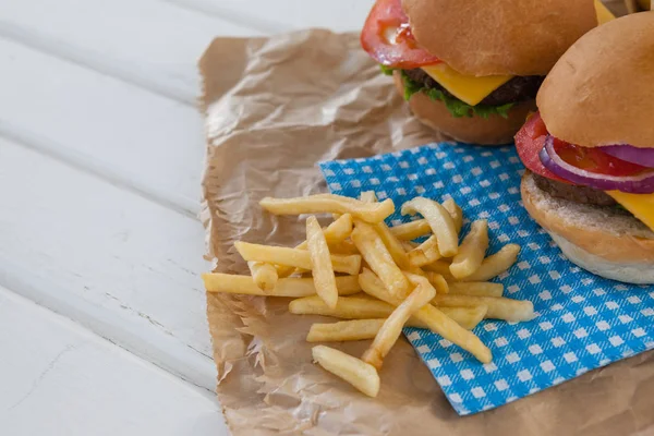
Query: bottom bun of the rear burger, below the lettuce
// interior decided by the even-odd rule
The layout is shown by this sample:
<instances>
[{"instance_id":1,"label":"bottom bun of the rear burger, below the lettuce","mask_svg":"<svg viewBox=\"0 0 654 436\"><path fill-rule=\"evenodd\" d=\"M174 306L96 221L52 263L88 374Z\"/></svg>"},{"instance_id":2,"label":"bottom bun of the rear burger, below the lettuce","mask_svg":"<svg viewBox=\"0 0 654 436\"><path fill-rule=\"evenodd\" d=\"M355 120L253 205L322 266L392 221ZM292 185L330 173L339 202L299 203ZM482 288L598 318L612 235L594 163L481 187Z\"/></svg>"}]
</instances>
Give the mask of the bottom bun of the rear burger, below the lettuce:
<instances>
[{"instance_id":1,"label":"bottom bun of the rear burger, below the lettuce","mask_svg":"<svg viewBox=\"0 0 654 436\"><path fill-rule=\"evenodd\" d=\"M404 95L402 77L393 73L396 88ZM536 111L535 100L513 106L508 118L493 114L488 119L481 117L455 118L440 100L432 100L424 93L415 93L409 99L411 111L423 124L440 131L456 141L481 145L502 145L513 142L513 136L524 124L529 112Z\"/></svg>"}]
</instances>

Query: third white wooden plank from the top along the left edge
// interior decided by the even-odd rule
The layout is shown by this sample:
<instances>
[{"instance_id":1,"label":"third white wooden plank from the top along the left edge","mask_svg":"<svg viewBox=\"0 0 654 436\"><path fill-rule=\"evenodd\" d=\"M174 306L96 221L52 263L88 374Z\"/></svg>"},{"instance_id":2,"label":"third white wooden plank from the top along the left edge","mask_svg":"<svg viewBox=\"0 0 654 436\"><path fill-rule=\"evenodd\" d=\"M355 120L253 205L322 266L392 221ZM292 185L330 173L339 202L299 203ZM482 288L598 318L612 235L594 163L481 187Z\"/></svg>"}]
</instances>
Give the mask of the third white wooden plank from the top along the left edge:
<instances>
[{"instance_id":1,"label":"third white wooden plank from the top along the left edge","mask_svg":"<svg viewBox=\"0 0 654 436\"><path fill-rule=\"evenodd\" d=\"M0 284L213 390L202 226L0 140Z\"/></svg>"}]
</instances>

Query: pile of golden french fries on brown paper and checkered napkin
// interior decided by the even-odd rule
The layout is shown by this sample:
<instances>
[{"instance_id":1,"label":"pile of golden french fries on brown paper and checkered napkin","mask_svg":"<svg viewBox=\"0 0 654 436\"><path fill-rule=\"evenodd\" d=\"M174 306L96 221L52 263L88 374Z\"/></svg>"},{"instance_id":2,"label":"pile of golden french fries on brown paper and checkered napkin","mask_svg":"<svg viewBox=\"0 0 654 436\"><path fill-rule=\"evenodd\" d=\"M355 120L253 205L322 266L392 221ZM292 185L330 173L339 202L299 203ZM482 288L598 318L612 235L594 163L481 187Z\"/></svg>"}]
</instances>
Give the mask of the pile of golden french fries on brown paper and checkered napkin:
<instances>
[{"instance_id":1,"label":"pile of golden french fries on brown paper and checkered napkin","mask_svg":"<svg viewBox=\"0 0 654 436\"><path fill-rule=\"evenodd\" d=\"M451 199L413 198L401 213L422 218L396 227L384 221L395 211L392 201L377 202L374 192L360 199L264 198L261 206L276 215L331 214L334 221L322 228L311 215L306 240L294 249L237 242L251 276L205 274L207 291L293 298L293 314L347 319L312 325L306 340L372 339L361 359L313 348L319 365L367 396L379 391L378 371L404 326L429 329L488 363L491 350L471 330L485 318L534 316L531 302L506 299L502 284L488 282L516 262L520 246L486 257L486 220L472 222L459 243L463 214Z\"/></svg>"}]
</instances>

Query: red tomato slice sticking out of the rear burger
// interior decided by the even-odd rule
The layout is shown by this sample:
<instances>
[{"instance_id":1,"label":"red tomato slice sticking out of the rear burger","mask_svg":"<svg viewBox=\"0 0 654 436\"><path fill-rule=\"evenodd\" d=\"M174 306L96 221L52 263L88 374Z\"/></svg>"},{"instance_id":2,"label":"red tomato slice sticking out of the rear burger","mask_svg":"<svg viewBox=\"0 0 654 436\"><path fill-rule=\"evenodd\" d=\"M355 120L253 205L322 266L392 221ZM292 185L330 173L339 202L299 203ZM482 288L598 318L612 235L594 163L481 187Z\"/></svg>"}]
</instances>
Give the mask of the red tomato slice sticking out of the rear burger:
<instances>
[{"instance_id":1,"label":"red tomato slice sticking out of the rear burger","mask_svg":"<svg viewBox=\"0 0 654 436\"><path fill-rule=\"evenodd\" d=\"M361 47L377 62L391 68L414 69L440 62L417 46L401 0L377 0L363 26Z\"/></svg>"}]
</instances>

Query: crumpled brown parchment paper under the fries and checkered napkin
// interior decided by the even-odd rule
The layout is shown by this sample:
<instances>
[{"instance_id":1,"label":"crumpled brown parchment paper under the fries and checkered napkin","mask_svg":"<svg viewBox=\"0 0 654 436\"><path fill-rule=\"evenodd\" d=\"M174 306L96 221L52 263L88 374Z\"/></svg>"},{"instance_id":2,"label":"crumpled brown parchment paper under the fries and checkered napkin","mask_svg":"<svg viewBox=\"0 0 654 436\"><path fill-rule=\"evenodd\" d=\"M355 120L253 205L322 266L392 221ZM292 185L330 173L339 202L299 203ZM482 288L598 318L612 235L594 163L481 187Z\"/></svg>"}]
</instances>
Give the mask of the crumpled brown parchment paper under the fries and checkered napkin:
<instances>
[{"instance_id":1,"label":"crumpled brown parchment paper under the fries and checkered napkin","mask_svg":"<svg viewBox=\"0 0 654 436\"><path fill-rule=\"evenodd\" d=\"M203 222L216 270L246 272L235 240L292 245L296 218L257 206L266 195L326 191L316 162L441 140L409 116L356 35L304 31L219 38L201 61L208 137ZM384 362L368 399L311 362L315 316L286 299L207 294L217 393L237 435L654 434L654 354L613 364L499 409L461 417L411 346ZM366 343L337 344L360 355Z\"/></svg>"}]
</instances>

